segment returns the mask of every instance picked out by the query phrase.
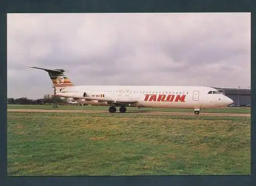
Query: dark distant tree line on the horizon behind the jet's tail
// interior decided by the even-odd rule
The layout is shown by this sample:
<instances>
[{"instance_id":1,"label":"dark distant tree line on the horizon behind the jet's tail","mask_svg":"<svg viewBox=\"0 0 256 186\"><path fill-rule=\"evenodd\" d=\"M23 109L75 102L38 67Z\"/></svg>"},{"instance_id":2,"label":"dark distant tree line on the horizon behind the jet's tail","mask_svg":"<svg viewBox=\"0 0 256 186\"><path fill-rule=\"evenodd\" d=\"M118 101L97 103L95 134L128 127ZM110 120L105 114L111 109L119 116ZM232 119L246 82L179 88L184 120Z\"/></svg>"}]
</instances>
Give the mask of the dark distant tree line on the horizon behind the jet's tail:
<instances>
[{"instance_id":1,"label":"dark distant tree line on the horizon behind the jet's tail","mask_svg":"<svg viewBox=\"0 0 256 186\"><path fill-rule=\"evenodd\" d=\"M55 102L66 103L67 99L61 99L59 97L56 97ZM54 97L47 94L47 95L44 95L42 99L36 99L36 100L28 99L26 97L17 98L17 99L7 98L7 103L15 104L15 105L39 105L39 104L46 104L46 103L52 104L54 103Z\"/></svg>"}]
</instances>

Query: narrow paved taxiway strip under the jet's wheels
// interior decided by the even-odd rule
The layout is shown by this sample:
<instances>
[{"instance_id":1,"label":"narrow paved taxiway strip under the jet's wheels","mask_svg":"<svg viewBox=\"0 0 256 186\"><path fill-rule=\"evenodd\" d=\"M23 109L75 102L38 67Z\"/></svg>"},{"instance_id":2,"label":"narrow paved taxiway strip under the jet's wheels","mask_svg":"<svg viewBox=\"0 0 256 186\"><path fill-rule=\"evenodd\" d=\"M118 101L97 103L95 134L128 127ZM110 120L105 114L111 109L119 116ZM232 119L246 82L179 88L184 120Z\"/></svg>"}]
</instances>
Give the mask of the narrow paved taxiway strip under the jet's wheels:
<instances>
[{"instance_id":1,"label":"narrow paved taxiway strip under the jet's wheels","mask_svg":"<svg viewBox=\"0 0 256 186\"><path fill-rule=\"evenodd\" d=\"M109 113L107 110L50 110L50 109L7 109L13 112L67 112L67 113ZM120 113L120 112L116 112ZM167 115L196 115L194 112L159 112L159 111L126 111L126 113L133 114L167 114ZM126 114L124 113L124 114ZM203 113L199 115L212 115L212 116L233 116L233 117L250 117L249 113Z\"/></svg>"}]
</instances>

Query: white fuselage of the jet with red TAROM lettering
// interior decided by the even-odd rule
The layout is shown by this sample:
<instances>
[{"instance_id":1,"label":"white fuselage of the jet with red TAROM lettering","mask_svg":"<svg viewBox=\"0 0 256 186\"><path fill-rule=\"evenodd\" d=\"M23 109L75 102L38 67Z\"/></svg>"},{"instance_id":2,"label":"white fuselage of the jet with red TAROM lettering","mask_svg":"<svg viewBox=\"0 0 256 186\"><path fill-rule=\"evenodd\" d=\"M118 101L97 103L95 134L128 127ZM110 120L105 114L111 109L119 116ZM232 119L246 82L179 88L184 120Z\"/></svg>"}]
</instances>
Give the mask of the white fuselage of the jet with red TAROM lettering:
<instances>
[{"instance_id":1,"label":"white fuselage of the jet with red TAROM lettering","mask_svg":"<svg viewBox=\"0 0 256 186\"><path fill-rule=\"evenodd\" d=\"M136 107L159 108L217 108L225 107L233 101L211 87L205 86L70 86L57 90L57 96L101 100L136 100L129 104Z\"/></svg>"}]
</instances>

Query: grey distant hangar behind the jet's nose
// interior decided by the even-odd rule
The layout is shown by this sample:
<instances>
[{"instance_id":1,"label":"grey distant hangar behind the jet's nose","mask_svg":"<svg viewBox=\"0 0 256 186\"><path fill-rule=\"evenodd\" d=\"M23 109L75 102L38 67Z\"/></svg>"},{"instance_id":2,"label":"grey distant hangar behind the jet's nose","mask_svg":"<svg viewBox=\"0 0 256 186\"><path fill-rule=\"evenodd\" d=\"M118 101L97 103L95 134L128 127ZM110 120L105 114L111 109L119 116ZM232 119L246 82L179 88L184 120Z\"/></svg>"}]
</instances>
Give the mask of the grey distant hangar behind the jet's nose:
<instances>
[{"instance_id":1,"label":"grey distant hangar behind the jet's nose","mask_svg":"<svg viewBox=\"0 0 256 186\"><path fill-rule=\"evenodd\" d=\"M237 106L246 106L251 104L251 89L250 88L222 88L212 87L219 90L223 95L234 101Z\"/></svg>"}]
</instances>

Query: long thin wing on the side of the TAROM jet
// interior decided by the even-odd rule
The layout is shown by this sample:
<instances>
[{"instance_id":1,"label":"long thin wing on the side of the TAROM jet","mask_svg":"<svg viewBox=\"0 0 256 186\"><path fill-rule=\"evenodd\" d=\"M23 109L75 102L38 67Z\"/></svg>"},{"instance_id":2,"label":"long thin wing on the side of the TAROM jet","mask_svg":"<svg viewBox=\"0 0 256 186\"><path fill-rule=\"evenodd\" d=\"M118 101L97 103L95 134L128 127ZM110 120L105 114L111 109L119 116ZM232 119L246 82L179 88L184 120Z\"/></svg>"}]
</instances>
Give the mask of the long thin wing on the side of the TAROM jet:
<instances>
[{"instance_id":1,"label":"long thin wing on the side of the TAROM jet","mask_svg":"<svg viewBox=\"0 0 256 186\"><path fill-rule=\"evenodd\" d=\"M77 98L77 99L84 99L84 100L88 100L88 101L93 101L93 100L97 100L99 102L108 102L108 103L119 103L119 104L133 104L133 103L137 103L137 100L132 100L132 99L108 99L108 98L97 98L97 97L77 97L77 96L62 96L62 95L58 95L56 94L55 96L57 97L63 97L63 98Z\"/></svg>"}]
</instances>

